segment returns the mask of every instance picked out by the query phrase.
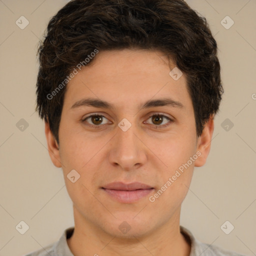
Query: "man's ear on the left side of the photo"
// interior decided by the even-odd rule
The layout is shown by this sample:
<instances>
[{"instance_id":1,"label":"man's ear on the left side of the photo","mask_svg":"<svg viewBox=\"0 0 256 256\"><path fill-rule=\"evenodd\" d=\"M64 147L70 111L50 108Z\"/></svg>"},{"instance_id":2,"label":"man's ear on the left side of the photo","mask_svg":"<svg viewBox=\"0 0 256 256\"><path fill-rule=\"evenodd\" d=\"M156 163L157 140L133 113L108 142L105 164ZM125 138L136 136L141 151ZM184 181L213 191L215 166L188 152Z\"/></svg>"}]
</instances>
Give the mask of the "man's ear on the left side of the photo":
<instances>
[{"instance_id":1,"label":"man's ear on the left side of the photo","mask_svg":"<svg viewBox=\"0 0 256 256\"><path fill-rule=\"evenodd\" d=\"M61 167L62 165L60 162L59 147L55 137L53 136L50 130L49 123L47 121L45 121L44 132L47 140L50 159L56 167Z\"/></svg>"}]
</instances>

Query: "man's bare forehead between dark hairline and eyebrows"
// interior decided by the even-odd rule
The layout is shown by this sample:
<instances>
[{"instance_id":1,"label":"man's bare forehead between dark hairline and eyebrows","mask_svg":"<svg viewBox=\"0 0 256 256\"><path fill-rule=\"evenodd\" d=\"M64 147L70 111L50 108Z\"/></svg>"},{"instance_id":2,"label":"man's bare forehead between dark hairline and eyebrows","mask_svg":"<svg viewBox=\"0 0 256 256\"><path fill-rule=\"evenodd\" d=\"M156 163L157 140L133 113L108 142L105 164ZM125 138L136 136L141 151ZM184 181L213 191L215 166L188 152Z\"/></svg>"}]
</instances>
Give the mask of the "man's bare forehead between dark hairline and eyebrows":
<instances>
[{"instance_id":1,"label":"man's bare forehead between dark hairline and eyebrows","mask_svg":"<svg viewBox=\"0 0 256 256\"><path fill-rule=\"evenodd\" d=\"M161 51L101 51L68 82L64 103L71 107L78 100L93 97L125 107L170 97L189 107L185 74L174 80L169 74L174 67Z\"/></svg>"}]
</instances>

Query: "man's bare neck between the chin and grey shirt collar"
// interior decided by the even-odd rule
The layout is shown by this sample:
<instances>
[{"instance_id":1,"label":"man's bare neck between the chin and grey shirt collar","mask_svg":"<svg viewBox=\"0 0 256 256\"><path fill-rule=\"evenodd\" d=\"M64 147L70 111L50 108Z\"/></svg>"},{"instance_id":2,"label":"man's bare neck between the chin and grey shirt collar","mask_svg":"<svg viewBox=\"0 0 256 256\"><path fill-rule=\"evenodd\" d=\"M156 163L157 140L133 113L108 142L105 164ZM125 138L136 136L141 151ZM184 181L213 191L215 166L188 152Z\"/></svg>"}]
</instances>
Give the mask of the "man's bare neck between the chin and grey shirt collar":
<instances>
[{"instance_id":1,"label":"man's bare neck between the chin and grey shirt collar","mask_svg":"<svg viewBox=\"0 0 256 256\"><path fill-rule=\"evenodd\" d=\"M190 243L179 230L179 212L143 236L123 238L93 225L74 208L74 232L67 244L74 256L189 256Z\"/></svg>"}]
</instances>

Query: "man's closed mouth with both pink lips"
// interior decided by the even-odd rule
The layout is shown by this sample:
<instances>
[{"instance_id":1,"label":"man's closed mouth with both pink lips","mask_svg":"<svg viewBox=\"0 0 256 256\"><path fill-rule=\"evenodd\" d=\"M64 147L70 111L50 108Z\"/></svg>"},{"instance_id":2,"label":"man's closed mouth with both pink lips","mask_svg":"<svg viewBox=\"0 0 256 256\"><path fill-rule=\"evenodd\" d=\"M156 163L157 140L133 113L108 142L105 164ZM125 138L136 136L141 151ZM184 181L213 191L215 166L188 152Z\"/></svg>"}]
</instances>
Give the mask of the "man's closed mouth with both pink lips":
<instances>
[{"instance_id":1,"label":"man's closed mouth with both pink lips","mask_svg":"<svg viewBox=\"0 0 256 256\"><path fill-rule=\"evenodd\" d=\"M154 190L152 186L140 182L128 184L123 182L112 182L101 188L112 199L122 203L138 201L140 198L145 197Z\"/></svg>"}]
</instances>

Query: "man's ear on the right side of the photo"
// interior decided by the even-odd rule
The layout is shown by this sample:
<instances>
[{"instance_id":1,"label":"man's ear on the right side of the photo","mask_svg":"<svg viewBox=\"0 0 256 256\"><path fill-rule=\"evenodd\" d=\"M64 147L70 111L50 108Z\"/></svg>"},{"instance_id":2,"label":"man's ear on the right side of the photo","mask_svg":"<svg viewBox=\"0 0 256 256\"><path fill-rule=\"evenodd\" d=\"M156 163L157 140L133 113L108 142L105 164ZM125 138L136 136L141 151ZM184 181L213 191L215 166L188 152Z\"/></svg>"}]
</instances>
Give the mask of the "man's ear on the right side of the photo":
<instances>
[{"instance_id":1,"label":"man's ear on the right side of the photo","mask_svg":"<svg viewBox=\"0 0 256 256\"><path fill-rule=\"evenodd\" d=\"M211 115L209 120L205 123L202 134L197 140L197 147L196 151L200 151L200 155L197 157L197 159L194 162L194 166L200 167L204 165L206 162L206 158L210 151L210 143L212 138L212 133L214 130L214 121L213 121L214 115Z\"/></svg>"}]
</instances>

